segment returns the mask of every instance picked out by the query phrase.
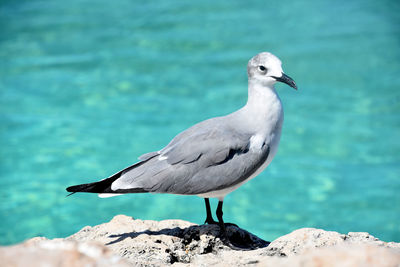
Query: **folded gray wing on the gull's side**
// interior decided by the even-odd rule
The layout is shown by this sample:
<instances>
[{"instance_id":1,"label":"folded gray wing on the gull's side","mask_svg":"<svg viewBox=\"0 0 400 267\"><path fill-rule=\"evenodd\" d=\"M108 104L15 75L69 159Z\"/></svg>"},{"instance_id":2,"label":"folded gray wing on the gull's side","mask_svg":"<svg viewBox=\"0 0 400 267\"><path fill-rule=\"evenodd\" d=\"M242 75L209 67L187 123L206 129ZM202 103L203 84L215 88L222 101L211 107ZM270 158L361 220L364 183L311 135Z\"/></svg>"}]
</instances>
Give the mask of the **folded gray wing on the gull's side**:
<instances>
[{"instance_id":1,"label":"folded gray wing on the gull's side","mask_svg":"<svg viewBox=\"0 0 400 267\"><path fill-rule=\"evenodd\" d=\"M246 180L267 159L269 147L249 149L248 133L209 120L189 128L147 160L122 173L112 190L141 188L148 192L203 194Z\"/></svg>"}]
</instances>

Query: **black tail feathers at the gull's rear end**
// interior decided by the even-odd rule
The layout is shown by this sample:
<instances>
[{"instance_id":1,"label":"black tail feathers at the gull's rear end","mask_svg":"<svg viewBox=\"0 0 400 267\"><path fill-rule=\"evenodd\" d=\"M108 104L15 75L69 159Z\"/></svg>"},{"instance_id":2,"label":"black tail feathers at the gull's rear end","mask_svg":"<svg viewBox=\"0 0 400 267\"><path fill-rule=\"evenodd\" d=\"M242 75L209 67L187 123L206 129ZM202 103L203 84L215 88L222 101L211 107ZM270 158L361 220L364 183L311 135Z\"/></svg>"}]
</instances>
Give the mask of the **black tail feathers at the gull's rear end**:
<instances>
[{"instance_id":1,"label":"black tail feathers at the gull's rear end","mask_svg":"<svg viewBox=\"0 0 400 267\"><path fill-rule=\"evenodd\" d=\"M78 192L99 193L99 194L102 194L102 193L110 193L110 194L146 193L148 191L146 191L143 188L118 189L118 190L111 189L111 184L115 180L120 178L123 173L142 165L144 162L146 162L146 161L140 161L140 162L138 162L128 168L125 168L122 171L119 171L116 174L114 174L106 179L103 179L101 181L98 181L98 182L88 183L88 184L78 184L78 185L73 185L73 186L67 187L66 190L68 192L71 192L71 194L69 194L67 196L73 195Z\"/></svg>"}]
</instances>

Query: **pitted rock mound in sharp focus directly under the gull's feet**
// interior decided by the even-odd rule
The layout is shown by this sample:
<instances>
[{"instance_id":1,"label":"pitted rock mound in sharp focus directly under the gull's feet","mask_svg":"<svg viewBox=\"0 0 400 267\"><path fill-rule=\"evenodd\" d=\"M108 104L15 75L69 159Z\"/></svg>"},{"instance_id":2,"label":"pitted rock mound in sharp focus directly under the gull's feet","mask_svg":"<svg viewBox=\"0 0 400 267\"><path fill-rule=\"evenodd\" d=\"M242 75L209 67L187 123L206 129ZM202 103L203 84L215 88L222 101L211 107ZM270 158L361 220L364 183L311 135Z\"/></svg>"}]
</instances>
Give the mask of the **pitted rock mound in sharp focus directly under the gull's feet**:
<instances>
[{"instance_id":1,"label":"pitted rock mound in sharp focus directly under the gull's feet","mask_svg":"<svg viewBox=\"0 0 400 267\"><path fill-rule=\"evenodd\" d=\"M240 248L266 247L268 242L235 226L227 227L230 240ZM198 255L230 250L219 237L217 225L195 225L181 220L134 220L118 215L109 223L85 227L67 240L96 240L135 264L190 263Z\"/></svg>"}]
</instances>

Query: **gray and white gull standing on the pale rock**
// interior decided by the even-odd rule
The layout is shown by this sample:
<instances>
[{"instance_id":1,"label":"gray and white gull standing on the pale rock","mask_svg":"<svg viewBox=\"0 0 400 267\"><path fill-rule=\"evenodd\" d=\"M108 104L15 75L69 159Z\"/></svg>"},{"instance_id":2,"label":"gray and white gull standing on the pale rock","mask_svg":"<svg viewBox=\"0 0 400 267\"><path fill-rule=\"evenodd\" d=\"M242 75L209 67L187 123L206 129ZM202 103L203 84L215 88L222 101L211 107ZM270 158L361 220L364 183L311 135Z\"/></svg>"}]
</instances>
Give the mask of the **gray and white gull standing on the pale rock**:
<instances>
[{"instance_id":1,"label":"gray and white gull standing on the pale rock","mask_svg":"<svg viewBox=\"0 0 400 267\"><path fill-rule=\"evenodd\" d=\"M274 84L279 81L297 89L283 73L281 61L268 52L250 59L247 74L248 100L241 109L202 121L163 149L140 156L132 166L67 191L99 193L100 197L148 192L197 195L205 199L205 223L219 224L225 236L224 197L263 171L278 149L283 108ZM219 200L218 223L211 215L209 198Z\"/></svg>"}]
</instances>

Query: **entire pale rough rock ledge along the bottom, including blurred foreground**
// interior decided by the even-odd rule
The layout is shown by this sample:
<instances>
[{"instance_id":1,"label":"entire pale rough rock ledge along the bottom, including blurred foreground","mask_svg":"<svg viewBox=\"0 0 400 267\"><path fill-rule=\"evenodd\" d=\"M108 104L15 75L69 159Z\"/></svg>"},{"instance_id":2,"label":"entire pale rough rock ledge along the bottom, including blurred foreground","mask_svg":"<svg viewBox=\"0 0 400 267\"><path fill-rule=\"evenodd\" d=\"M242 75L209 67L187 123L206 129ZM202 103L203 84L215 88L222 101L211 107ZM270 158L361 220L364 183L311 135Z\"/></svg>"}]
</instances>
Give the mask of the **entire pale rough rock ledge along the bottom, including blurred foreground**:
<instances>
[{"instance_id":1,"label":"entire pale rough rock ledge along the bottom, including blurred foreground","mask_svg":"<svg viewBox=\"0 0 400 267\"><path fill-rule=\"evenodd\" d=\"M368 233L303 228L269 243L236 226L118 215L65 239L1 247L4 266L400 266L400 244ZM232 247L234 249L232 249ZM36 264L36 265L35 265Z\"/></svg>"}]
</instances>

